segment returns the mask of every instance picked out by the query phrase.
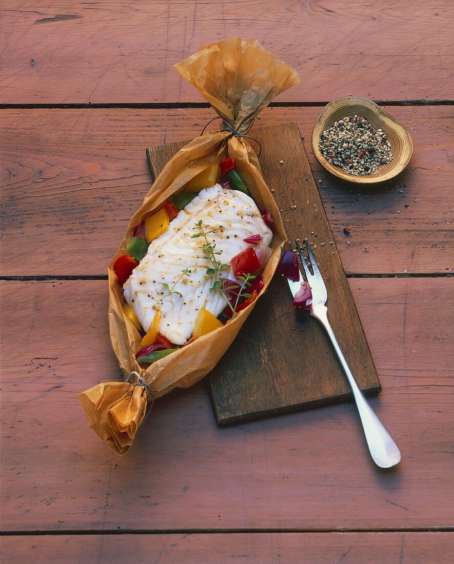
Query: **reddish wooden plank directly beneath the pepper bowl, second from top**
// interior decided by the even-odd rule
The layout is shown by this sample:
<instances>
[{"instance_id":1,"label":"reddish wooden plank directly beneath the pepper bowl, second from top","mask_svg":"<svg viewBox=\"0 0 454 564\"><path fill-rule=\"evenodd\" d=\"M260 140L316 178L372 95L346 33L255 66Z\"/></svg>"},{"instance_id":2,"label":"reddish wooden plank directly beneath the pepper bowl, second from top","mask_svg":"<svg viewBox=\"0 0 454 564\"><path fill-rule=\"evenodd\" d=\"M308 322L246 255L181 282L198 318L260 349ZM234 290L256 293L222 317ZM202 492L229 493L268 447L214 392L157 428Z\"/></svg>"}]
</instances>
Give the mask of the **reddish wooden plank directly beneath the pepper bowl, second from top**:
<instances>
[{"instance_id":1,"label":"reddish wooden plank directly beneath the pepper bowl, second from top","mask_svg":"<svg viewBox=\"0 0 454 564\"><path fill-rule=\"evenodd\" d=\"M402 177L380 188L346 186L320 170L310 153L320 108L267 108L257 124L298 121L347 273L447 272L452 108L387 109L409 127L415 152ZM1 274L105 274L151 183L145 148L192 138L212 116L190 108L1 112Z\"/></svg>"}]
</instances>

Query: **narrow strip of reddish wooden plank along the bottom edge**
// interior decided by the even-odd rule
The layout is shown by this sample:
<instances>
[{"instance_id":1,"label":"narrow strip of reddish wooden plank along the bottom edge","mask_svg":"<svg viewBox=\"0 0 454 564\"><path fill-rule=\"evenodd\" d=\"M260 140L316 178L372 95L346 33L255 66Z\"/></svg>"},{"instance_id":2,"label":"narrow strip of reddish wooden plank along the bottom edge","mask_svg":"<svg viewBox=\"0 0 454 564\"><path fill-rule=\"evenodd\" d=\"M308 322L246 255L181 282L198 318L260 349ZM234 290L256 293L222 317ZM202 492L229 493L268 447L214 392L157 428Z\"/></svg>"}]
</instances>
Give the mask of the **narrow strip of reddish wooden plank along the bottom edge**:
<instances>
[{"instance_id":1,"label":"narrow strip of reddish wooden plank along the bottom edge","mask_svg":"<svg viewBox=\"0 0 454 564\"><path fill-rule=\"evenodd\" d=\"M135 564L446 564L453 549L448 532L7 536L2 562L51 564L64 554L66 564L124 564L134 554Z\"/></svg>"}]
</instances>

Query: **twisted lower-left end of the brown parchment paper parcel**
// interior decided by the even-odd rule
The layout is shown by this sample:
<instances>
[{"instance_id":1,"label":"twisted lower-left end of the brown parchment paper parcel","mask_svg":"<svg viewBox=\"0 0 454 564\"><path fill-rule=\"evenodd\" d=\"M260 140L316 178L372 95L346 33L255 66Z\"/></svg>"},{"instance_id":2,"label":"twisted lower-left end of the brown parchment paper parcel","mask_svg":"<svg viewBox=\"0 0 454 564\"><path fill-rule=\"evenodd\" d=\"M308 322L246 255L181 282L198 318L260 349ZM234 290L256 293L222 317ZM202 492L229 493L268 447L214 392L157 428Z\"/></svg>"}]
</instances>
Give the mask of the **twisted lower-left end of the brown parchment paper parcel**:
<instances>
[{"instance_id":1,"label":"twisted lower-left end of the brown parchment paper parcel","mask_svg":"<svg viewBox=\"0 0 454 564\"><path fill-rule=\"evenodd\" d=\"M118 455L129 451L146 415L148 386L138 380L104 382L78 394L90 429Z\"/></svg>"}]
</instances>

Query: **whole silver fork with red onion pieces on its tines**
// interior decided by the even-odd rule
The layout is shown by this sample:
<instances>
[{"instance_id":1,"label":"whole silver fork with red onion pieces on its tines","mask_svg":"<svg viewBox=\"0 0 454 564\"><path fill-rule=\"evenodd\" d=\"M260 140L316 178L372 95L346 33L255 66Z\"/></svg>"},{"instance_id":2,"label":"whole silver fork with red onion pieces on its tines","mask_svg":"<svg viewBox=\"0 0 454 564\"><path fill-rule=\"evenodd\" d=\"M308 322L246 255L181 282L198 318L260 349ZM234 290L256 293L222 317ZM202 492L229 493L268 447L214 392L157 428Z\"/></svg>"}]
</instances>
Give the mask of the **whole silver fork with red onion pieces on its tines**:
<instances>
[{"instance_id":1,"label":"whole silver fork with red onion pieces on its tines","mask_svg":"<svg viewBox=\"0 0 454 564\"><path fill-rule=\"evenodd\" d=\"M391 466L395 466L400 462L399 449L397 448L394 440L390 437L387 430L381 424L380 419L378 419L378 417L373 412L371 406L369 406L367 399L365 399L364 394L360 390L353 374L351 373L345 356L343 356L341 347L339 346L333 329L331 328L331 325L328 321L328 309L325 306L325 303L328 299L327 288L325 287L325 283L323 281L323 278L321 277L319 267L315 262L314 254L312 253L312 249L310 248L307 239L304 240L304 243L306 245L307 255L309 257L312 266L312 272L314 272L314 274L311 274L307 266L301 246L299 245L299 241L296 240L295 243L298 249L299 258L301 259L301 264L306 274L307 282L312 289L312 305L309 310L310 314L318 319L321 324L323 324L331 342L333 343L334 350L336 351L340 363L342 364L343 371L347 376L353 397L355 398L356 407L358 407L359 416L363 424L365 438L367 440L373 461L375 462L375 464L377 464L377 466L380 466L381 468L391 468ZM289 248L293 252L293 248L290 243ZM290 279L288 280L290 291L292 292L293 296L295 296L296 292L301 287L301 282L303 281L301 271L299 272L299 278L300 280L298 282L293 282Z\"/></svg>"}]
</instances>

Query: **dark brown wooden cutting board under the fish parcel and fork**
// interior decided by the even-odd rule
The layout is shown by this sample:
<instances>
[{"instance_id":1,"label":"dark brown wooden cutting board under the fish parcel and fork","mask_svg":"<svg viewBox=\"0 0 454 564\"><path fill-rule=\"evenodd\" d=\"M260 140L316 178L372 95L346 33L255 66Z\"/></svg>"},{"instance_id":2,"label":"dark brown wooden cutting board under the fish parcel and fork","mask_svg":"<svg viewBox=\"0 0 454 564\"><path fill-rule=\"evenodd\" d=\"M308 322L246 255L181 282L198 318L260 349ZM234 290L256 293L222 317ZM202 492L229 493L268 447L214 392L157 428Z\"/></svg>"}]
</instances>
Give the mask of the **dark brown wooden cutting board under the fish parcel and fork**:
<instances>
[{"instance_id":1,"label":"dark brown wooden cutting board under the fish parcel and fork","mask_svg":"<svg viewBox=\"0 0 454 564\"><path fill-rule=\"evenodd\" d=\"M250 135L262 144L263 178L274 190L289 240L307 237L314 243L328 289L329 320L350 368L365 393L378 393L380 381L298 125L257 127ZM147 149L155 178L186 143ZM219 425L351 398L324 329L308 312L294 310L286 280L278 275L208 382Z\"/></svg>"}]
</instances>

